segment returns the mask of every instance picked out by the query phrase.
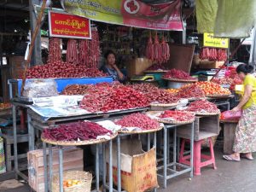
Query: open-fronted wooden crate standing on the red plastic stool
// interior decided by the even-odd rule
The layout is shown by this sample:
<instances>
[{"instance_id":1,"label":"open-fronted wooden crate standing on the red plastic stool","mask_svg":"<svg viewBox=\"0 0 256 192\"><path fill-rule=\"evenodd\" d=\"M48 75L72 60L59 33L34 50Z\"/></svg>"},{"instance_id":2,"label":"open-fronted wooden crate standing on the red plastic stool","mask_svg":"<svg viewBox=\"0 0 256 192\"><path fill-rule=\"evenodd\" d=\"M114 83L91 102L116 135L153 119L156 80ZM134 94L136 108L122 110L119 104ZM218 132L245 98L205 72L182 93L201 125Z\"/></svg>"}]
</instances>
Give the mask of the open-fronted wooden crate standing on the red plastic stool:
<instances>
[{"instance_id":1,"label":"open-fronted wooden crate standing on the red plastic stool","mask_svg":"<svg viewBox=\"0 0 256 192\"><path fill-rule=\"evenodd\" d=\"M208 137L218 136L219 133L219 117L199 116L195 117L194 122L194 140L200 141ZM181 125L177 127L177 137L190 139L191 125Z\"/></svg>"}]
</instances>

